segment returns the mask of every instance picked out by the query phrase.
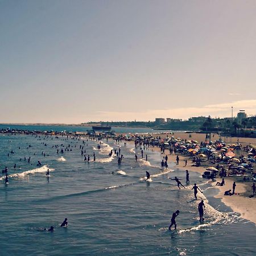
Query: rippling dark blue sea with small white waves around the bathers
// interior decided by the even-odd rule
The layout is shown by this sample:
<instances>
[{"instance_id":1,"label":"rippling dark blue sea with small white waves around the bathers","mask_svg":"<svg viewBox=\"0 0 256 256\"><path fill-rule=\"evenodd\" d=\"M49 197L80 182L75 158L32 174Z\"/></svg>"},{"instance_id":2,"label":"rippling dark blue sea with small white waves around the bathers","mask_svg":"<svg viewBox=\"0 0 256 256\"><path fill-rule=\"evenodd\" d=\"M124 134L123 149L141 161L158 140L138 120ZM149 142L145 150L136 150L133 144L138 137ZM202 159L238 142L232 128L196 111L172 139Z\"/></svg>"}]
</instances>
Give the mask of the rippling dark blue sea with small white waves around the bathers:
<instances>
[{"instance_id":1,"label":"rippling dark blue sea with small white waves around the bathers","mask_svg":"<svg viewBox=\"0 0 256 256\"><path fill-rule=\"evenodd\" d=\"M7 127L24 129L0 126ZM77 127L26 129L86 130ZM118 132L150 132L122 129ZM123 155L120 165L116 155L109 156L114 149ZM9 174L9 184L4 175L0 178L0 255L256 255L255 224L214 198L218 190L199 173L190 172L185 184L184 171L174 163L160 170L164 155L152 149L145 148L141 158L133 143L112 139L0 134L0 168L7 167ZM84 155L90 155L89 162ZM168 179L175 176L185 189ZM197 201L194 183L203 191ZM200 200L206 206L203 222ZM170 231L176 210L177 230ZM61 228L64 218L68 226ZM50 226L53 232L44 230Z\"/></svg>"}]
</instances>

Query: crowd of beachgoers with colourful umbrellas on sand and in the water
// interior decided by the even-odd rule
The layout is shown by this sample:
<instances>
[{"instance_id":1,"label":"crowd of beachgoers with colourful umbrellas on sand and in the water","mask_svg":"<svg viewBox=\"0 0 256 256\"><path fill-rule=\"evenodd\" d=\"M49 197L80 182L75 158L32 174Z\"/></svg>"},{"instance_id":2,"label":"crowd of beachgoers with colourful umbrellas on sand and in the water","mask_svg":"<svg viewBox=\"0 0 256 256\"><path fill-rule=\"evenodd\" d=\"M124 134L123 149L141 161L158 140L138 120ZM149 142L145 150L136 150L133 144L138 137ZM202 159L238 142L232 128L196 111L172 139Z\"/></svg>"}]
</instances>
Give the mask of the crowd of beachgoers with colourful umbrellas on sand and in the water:
<instances>
[{"instance_id":1,"label":"crowd of beachgoers with colourful umbrellas on sand and in the water","mask_svg":"<svg viewBox=\"0 0 256 256\"><path fill-rule=\"evenodd\" d=\"M37 138L38 140L42 139L42 141L44 141L45 139L50 139L50 137L52 136L52 135L46 134L44 135L43 138L41 138L40 134L32 134L32 135L34 135L34 137ZM62 138L64 138L63 134L59 134L59 136L60 135L62 136ZM68 139L77 140L77 142L80 142L81 140L80 135L73 134L73 135L66 135L66 136L67 137L65 138L65 140L67 141ZM58 134L55 134L55 138L59 138ZM211 165L214 164L215 166L210 168L215 169L213 170L215 176L219 175L222 178L221 182L218 181L216 183L217 186L221 186L221 187L224 186L225 177L232 177L234 175L244 175L243 181L247 181L247 179L254 181L256 178L256 173L254 170L254 163L256 162L255 160L256 147L250 144L245 147L242 147L241 144L238 142L236 144L226 144L222 141L214 141L214 142L209 141L209 142L199 143L193 140L189 141L187 139L184 140L181 138L174 138L173 136L168 137L168 135L164 139L162 139L160 136L152 137L151 135L142 136L138 134L133 135L132 139L124 137L123 135L110 137L104 134L90 135L89 138L88 137L85 137L85 138L86 139L81 140L82 144L80 144L79 150L80 150L80 154L84 157L84 162L88 162L88 163L90 162L90 156L91 156L90 154L86 154L85 145L88 146L88 143L86 143L88 142L88 139L98 141L97 149L101 150L102 148L101 140L105 138L108 141L109 138L112 138L117 143L119 143L120 141L124 141L125 145L126 145L126 141L133 140L135 149L140 150L142 159L144 159L145 150L150 150L150 149L154 149L155 147L158 147L160 149L160 153L162 155L165 155L163 156L162 162L160 163L160 167L162 170L168 168L168 155L166 154L166 150L168 150L170 155L176 155L175 160L176 160L177 166L180 164L180 156L185 157L184 167L187 167L189 159L191 160L191 163L192 163L191 166L195 166L195 167L200 167L202 166L202 164L204 164L205 166L209 164ZM47 147L46 142L42 142L42 144ZM31 147L32 145L29 144L28 148L31 148ZM71 144L68 143L67 146L64 146L64 143L61 143L60 145L56 144L55 146L52 146L52 147L56 148L56 154L59 155L59 154L64 154L65 151L66 152L72 151L72 148L74 147L76 148L76 145L71 146ZM10 157L10 154L15 154L14 150L11 150L10 152L8 152L7 156ZM135 162L138 161L137 154L135 153ZM235 157L236 154L238 155L237 158ZM46 152L44 151L42 151L41 155L43 157L48 156L48 154L46 154ZM124 158L123 154L121 154L121 147L113 148L112 150L110 150L108 156L112 157L113 155L117 158L117 163L120 166ZM92 158L93 158L93 162L95 162L96 161L95 152L93 152ZM28 164L32 164L31 156L29 156L28 158L24 156L23 159ZM148 155L146 154L146 161L147 160L148 160ZM20 158L20 161L22 161L22 158ZM37 161L36 166L37 167L42 166L42 163L40 162L40 160ZM14 164L14 169L15 168L16 168L16 163ZM2 170L2 173L5 175L5 184L8 184L9 183L8 168L5 167ZM251 177L249 177L249 175ZM46 172L46 176L49 179L49 169ZM146 171L145 180L149 180L149 179L150 179L150 172ZM179 179L178 177L176 176L174 178L169 177L169 179L175 180L177 183L177 187L179 189L181 189L181 187L185 188L185 186L180 181L181 179ZM189 183L188 170L185 170L185 180L186 180L186 183L188 184ZM255 196L256 192L255 192L254 182L251 185L251 189L253 191L253 196ZM195 200L197 200L198 191L203 193L196 183L193 185L192 190L194 192ZM231 196L231 195L235 195L235 193L236 193L236 181L233 182L232 189L225 191L224 195ZM198 205L200 221L204 220L203 218L204 209L205 209L204 201L201 200L201 202ZM176 210L176 212L172 214L171 224L169 226L169 229L171 229L173 225L175 226L175 229L176 229L175 218L179 215L179 213L180 213L179 210ZM65 218L65 221L67 222L67 218ZM61 226L63 225L64 224L61 224ZM51 228L49 228L48 231L53 231L53 226L51 226Z\"/></svg>"}]
</instances>

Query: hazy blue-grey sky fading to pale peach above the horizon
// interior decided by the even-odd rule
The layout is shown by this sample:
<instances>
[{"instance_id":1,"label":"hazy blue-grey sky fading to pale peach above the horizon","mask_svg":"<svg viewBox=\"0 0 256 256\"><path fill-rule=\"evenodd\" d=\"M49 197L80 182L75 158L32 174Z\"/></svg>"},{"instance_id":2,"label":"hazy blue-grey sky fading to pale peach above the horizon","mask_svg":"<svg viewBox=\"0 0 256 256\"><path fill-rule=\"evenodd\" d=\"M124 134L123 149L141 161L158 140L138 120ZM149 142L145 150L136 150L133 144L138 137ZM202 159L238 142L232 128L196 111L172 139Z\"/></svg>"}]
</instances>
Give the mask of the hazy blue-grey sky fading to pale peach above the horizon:
<instances>
[{"instance_id":1,"label":"hazy blue-grey sky fading to pale peach above the horizon","mask_svg":"<svg viewBox=\"0 0 256 256\"><path fill-rule=\"evenodd\" d=\"M255 0L0 0L0 122L255 115L255 13Z\"/></svg>"}]
</instances>

